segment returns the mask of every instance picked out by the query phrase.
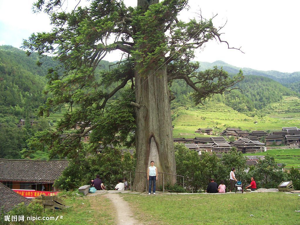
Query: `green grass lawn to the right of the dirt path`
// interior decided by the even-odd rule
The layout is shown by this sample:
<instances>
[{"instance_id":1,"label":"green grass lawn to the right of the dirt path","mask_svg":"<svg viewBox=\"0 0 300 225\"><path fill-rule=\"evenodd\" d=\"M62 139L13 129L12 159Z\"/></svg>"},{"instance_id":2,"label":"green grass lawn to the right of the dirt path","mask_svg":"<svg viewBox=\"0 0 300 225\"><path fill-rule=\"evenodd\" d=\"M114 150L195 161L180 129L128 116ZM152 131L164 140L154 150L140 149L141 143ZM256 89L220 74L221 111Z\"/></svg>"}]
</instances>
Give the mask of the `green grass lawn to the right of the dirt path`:
<instances>
[{"instance_id":1,"label":"green grass lawn to the right of the dirt path","mask_svg":"<svg viewBox=\"0 0 300 225\"><path fill-rule=\"evenodd\" d=\"M300 197L286 193L142 196L126 194L138 220L172 225L298 225ZM250 216L250 215L253 216Z\"/></svg>"}]
</instances>

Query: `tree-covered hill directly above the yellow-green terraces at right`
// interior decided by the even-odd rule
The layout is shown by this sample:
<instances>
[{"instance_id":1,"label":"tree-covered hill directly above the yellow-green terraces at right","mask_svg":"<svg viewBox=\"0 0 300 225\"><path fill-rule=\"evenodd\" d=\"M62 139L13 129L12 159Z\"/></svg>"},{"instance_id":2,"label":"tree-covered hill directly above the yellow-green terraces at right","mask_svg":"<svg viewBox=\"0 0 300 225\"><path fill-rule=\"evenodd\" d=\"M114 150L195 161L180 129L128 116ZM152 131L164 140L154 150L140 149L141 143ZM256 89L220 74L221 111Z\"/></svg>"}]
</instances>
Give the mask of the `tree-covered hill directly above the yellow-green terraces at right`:
<instances>
[{"instance_id":1,"label":"tree-covered hill directly above the yellow-green terraces at right","mask_svg":"<svg viewBox=\"0 0 300 225\"><path fill-rule=\"evenodd\" d=\"M263 76L245 76L244 80L234 85L239 88L223 95L214 95L207 101L223 102L238 112L251 112L260 110L268 104L282 100L283 96L297 95L295 91L281 85L280 83ZM194 107L191 95L193 89L187 87L183 81L174 83L172 91L176 96L172 108L179 106ZM204 104L205 104L204 102Z\"/></svg>"}]
</instances>

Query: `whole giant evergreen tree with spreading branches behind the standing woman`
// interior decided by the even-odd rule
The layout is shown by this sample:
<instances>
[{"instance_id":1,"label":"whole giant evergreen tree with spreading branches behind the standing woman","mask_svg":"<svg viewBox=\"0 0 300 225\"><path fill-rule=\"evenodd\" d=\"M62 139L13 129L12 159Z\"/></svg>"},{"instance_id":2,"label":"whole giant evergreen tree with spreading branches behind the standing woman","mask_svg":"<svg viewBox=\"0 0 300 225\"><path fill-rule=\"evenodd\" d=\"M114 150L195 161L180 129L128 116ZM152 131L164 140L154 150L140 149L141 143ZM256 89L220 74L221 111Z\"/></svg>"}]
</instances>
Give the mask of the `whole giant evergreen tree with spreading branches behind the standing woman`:
<instances>
[{"instance_id":1,"label":"whole giant evergreen tree with spreading branches behind the standing woman","mask_svg":"<svg viewBox=\"0 0 300 225\"><path fill-rule=\"evenodd\" d=\"M48 91L53 97L41 112L49 115L64 104L70 106L57 131L45 133L41 140L51 143L54 154L76 158L80 138L91 130L94 148L100 143L124 144L135 130L136 171L146 172L154 160L158 172L175 174L170 114L174 97L169 88L173 80L185 80L194 89L197 104L228 91L241 80L241 73L230 78L216 68L197 72L198 64L190 62L193 50L207 41L228 43L220 39L211 19L183 22L177 18L188 0L137 0L136 8L126 7L122 0L92 0L89 7L70 12L62 10L62 2L35 4L37 11L49 14L54 28L32 34L23 46L29 54L37 51L40 63L45 53L61 62L61 67L49 70ZM116 69L95 76L101 59L115 50L124 52L126 59ZM120 102L112 101L119 92ZM76 134L62 135L77 121L87 122ZM89 122L92 126L85 129ZM145 185L145 175L137 173L134 187Z\"/></svg>"}]
</instances>

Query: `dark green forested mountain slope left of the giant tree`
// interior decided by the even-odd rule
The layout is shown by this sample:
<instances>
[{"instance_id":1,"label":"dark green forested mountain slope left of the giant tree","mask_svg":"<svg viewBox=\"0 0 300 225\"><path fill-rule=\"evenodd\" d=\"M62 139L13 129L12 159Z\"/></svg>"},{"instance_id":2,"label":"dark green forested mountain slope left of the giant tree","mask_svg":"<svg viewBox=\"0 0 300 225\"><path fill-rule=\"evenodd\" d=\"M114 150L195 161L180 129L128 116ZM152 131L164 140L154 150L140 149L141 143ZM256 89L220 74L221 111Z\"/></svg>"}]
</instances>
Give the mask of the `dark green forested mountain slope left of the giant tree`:
<instances>
[{"instance_id":1,"label":"dark green forested mountain slope left of the giant tree","mask_svg":"<svg viewBox=\"0 0 300 225\"><path fill-rule=\"evenodd\" d=\"M49 68L58 65L47 57L39 67L37 60L37 54L28 57L18 48L0 46L0 122L37 118L38 107L46 101L43 94L46 74ZM110 64L103 61L99 70L109 70Z\"/></svg>"}]
</instances>

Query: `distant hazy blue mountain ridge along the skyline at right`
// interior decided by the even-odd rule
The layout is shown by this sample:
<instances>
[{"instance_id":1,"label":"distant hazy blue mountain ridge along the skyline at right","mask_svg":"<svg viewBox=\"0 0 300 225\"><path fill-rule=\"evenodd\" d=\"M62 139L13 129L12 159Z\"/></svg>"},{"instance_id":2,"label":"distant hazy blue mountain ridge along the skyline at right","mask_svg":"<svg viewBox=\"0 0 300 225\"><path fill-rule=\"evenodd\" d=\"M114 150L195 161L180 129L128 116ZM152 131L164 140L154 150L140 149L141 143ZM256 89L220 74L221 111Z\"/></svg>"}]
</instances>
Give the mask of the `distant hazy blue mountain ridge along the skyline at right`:
<instances>
[{"instance_id":1,"label":"distant hazy blue mountain ridge along the skyline at right","mask_svg":"<svg viewBox=\"0 0 300 225\"><path fill-rule=\"evenodd\" d=\"M289 84L291 83L300 81L300 72L282 73L275 70L268 70L268 71L254 70L246 67L241 68L241 67L232 66L223 61L215 61L213 63L199 62L199 64L200 64L200 70L206 70L214 66L217 66L219 68L222 67L223 70L226 70L228 73L238 73L238 71L241 69L244 72L244 75L265 76L277 82L280 82L285 86L289 86Z\"/></svg>"}]
</instances>

